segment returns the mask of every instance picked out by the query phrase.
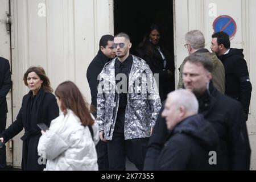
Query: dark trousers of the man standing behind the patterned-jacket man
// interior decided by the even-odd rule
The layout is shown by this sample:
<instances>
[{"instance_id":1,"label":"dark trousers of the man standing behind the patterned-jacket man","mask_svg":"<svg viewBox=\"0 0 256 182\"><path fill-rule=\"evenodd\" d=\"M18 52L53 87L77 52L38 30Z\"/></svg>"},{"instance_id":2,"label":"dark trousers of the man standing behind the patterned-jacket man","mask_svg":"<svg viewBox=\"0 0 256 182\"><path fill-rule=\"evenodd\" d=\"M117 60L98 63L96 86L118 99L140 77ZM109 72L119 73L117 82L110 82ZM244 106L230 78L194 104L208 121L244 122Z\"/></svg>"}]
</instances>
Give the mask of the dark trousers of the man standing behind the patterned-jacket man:
<instances>
[{"instance_id":1,"label":"dark trousers of the man standing behind the patterned-jacket man","mask_svg":"<svg viewBox=\"0 0 256 182\"><path fill-rule=\"evenodd\" d=\"M109 170L109 156L108 156L108 144L101 140L96 145L96 151L98 156L98 170L108 171Z\"/></svg>"}]
</instances>

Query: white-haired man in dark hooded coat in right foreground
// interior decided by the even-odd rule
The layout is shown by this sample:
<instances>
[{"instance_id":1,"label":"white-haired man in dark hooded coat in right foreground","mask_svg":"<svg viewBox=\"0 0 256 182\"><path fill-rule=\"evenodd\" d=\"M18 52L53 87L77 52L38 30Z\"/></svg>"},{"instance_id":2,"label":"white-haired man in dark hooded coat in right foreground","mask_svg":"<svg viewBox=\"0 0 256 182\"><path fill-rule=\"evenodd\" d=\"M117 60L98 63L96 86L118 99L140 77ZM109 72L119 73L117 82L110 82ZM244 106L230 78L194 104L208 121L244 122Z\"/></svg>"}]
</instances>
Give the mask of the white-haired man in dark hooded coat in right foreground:
<instances>
[{"instance_id":1,"label":"white-haired man in dark hooded coat in right foreground","mask_svg":"<svg viewBox=\"0 0 256 182\"><path fill-rule=\"evenodd\" d=\"M169 139L160 152L158 170L210 170L217 164L218 134L198 113L199 104L189 90L168 94L162 117L166 119ZM215 156L216 157L216 156Z\"/></svg>"}]
</instances>

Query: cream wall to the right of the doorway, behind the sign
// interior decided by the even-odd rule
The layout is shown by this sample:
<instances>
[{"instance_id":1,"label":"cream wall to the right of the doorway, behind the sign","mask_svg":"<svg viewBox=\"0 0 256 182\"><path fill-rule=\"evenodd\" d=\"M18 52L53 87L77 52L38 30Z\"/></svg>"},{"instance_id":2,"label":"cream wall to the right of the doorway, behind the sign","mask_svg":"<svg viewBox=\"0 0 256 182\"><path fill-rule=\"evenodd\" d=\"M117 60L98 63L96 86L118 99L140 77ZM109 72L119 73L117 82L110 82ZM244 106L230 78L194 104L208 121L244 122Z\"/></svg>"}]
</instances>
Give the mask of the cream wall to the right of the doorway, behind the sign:
<instances>
[{"instance_id":1,"label":"cream wall to the right of the doorway, behind the sign","mask_svg":"<svg viewBox=\"0 0 256 182\"><path fill-rule=\"evenodd\" d=\"M179 0L175 1L175 58L176 68L180 67L184 57L188 56L184 48L184 36L188 31L201 30L205 35L205 47L210 50L211 36L213 34L212 24L214 19L220 15L231 16L237 24L237 33L231 40L234 48L243 48L245 60L249 68L253 92L251 96L250 115L247 121L251 144L251 169L256 169L256 107L255 89L256 84L256 22L253 13L256 11L254 0ZM176 75L179 71L176 69Z\"/></svg>"}]
</instances>

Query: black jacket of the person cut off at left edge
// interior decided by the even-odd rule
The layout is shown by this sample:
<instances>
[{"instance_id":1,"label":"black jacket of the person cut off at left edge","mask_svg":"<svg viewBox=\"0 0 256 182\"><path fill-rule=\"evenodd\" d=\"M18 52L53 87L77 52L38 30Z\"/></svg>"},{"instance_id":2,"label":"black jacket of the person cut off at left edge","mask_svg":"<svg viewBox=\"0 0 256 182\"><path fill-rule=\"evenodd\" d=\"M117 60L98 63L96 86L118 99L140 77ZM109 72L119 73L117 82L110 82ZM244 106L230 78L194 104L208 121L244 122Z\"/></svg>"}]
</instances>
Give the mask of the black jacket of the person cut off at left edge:
<instances>
[{"instance_id":1,"label":"black jacket of the person cut off at left edge","mask_svg":"<svg viewBox=\"0 0 256 182\"><path fill-rule=\"evenodd\" d=\"M11 72L9 61L0 57L0 114L7 113L6 95L11 88Z\"/></svg>"}]
</instances>

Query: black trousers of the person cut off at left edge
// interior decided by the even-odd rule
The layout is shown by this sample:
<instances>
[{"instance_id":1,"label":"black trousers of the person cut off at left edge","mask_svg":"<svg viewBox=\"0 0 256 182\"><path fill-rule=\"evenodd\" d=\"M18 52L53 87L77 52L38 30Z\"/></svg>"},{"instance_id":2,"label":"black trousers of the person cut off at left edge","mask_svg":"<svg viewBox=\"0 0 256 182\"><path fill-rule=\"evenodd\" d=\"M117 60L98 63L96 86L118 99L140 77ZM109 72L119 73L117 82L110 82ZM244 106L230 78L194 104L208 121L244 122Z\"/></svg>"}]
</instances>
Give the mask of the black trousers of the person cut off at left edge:
<instances>
[{"instance_id":1,"label":"black trousers of the person cut off at left edge","mask_svg":"<svg viewBox=\"0 0 256 182\"><path fill-rule=\"evenodd\" d=\"M5 130L6 127L6 114L0 114L0 134ZM0 148L0 169L6 168L6 148L3 145Z\"/></svg>"}]
</instances>

